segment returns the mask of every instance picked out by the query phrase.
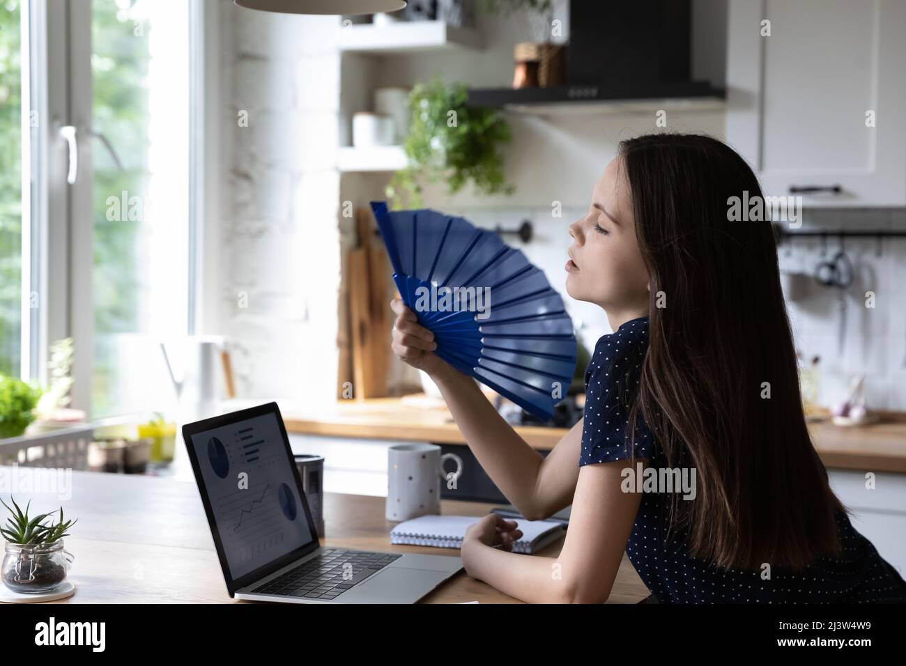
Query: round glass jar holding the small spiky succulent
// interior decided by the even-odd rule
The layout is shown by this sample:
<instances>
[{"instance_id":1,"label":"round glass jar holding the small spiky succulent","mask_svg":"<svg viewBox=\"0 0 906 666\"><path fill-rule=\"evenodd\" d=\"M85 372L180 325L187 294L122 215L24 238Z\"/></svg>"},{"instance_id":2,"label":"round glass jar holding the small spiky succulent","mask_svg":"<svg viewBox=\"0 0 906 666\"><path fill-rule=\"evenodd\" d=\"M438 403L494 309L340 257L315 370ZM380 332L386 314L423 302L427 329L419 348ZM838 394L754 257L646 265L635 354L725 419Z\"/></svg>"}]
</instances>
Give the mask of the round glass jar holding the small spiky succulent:
<instances>
[{"instance_id":1,"label":"round glass jar holding the small spiky succulent","mask_svg":"<svg viewBox=\"0 0 906 666\"><path fill-rule=\"evenodd\" d=\"M13 592L51 592L66 580L75 556L63 550L63 539L53 544L5 543L3 582Z\"/></svg>"}]
</instances>

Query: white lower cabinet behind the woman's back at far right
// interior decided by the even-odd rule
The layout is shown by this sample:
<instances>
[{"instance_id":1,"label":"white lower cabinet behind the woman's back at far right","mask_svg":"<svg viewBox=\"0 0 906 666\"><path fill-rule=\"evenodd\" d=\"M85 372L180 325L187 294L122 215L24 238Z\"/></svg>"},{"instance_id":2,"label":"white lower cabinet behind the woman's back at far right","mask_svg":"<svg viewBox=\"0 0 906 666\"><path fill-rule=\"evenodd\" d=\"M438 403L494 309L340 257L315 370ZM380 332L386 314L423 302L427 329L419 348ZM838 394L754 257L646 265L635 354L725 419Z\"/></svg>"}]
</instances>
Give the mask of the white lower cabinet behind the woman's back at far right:
<instances>
[{"instance_id":1,"label":"white lower cabinet behind the woman's back at far right","mask_svg":"<svg viewBox=\"0 0 906 666\"><path fill-rule=\"evenodd\" d=\"M853 527L906 578L906 474L876 472L874 487L865 487L865 473L828 469L831 487L852 509Z\"/></svg>"}]
</instances>

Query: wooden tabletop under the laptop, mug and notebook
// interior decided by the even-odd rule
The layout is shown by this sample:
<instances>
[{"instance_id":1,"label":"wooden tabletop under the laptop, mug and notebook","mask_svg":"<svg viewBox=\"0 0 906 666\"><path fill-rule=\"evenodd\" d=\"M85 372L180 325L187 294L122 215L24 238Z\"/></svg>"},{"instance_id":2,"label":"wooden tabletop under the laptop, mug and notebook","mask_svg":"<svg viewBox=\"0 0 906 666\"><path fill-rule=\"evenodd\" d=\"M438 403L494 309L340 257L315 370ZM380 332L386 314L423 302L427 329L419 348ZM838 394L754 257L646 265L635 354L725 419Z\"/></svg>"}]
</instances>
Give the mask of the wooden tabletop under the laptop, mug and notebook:
<instances>
[{"instance_id":1,"label":"wooden tabletop under the laptop, mug and notebook","mask_svg":"<svg viewBox=\"0 0 906 666\"><path fill-rule=\"evenodd\" d=\"M34 468L0 467L0 474L20 484ZM40 487L34 479L34 487ZM18 493L32 498L35 510L63 505L65 516L78 518L66 550L75 555L69 578L76 592L59 603L259 603L230 599L220 573L217 551L194 482L166 477L72 472L69 499L55 493ZM391 545L384 518L384 497L324 494L325 538L322 545L365 548L391 553L457 555L458 549ZM484 516L492 504L443 499L441 513ZM554 556L563 538L539 555ZM526 555L527 556L527 555ZM609 603L637 603L648 589L631 563L623 561ZM441 584L420 603L521 603L465 570Z\"/></svg>"}]
</instances>

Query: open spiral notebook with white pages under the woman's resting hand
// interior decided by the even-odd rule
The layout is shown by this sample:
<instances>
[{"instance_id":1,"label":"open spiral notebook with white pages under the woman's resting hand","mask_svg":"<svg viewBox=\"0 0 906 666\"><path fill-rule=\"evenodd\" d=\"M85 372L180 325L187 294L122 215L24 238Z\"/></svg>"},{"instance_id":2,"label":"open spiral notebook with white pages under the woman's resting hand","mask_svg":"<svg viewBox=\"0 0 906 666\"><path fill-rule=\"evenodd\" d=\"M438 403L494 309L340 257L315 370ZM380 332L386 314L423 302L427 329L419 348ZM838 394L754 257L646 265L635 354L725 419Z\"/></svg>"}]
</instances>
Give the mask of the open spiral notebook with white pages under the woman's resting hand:
<instances>
[{"instance_id":1,"label":"open spiral notebook with white pages under the woman's resting hand","mask_svg":"<svg viewBox=\"0 0 906 666\"><path fill-rule=\"evenodd\" d=\"M391 544L433 545L459 548L469 526L481 516L419 516L406 520L390 530ZM513 544L514 553L531 555L562 536L566 526L554 520L516 519L522 538Z\"/></svg>"}]
</instances>

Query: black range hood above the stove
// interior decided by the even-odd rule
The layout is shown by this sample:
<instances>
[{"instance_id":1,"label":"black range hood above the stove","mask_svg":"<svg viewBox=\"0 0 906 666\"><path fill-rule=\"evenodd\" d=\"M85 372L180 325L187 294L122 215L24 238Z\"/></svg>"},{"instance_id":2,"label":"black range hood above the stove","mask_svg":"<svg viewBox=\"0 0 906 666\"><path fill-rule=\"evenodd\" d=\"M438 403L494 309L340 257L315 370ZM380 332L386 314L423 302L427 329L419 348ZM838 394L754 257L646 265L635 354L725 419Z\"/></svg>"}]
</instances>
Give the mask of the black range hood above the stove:
<instances>
[{"instance_id":1,"label":"black range hood above the stove","mask_svg":"<svg viewBox=\"0 0 906 666\"><path fill-rule=\"evenodd\" d=\"M468 92L471 105L525 111L717 107L724 98L691 80L691 0L572 0L564 85Z\"/></svg>"}]
</instances>

